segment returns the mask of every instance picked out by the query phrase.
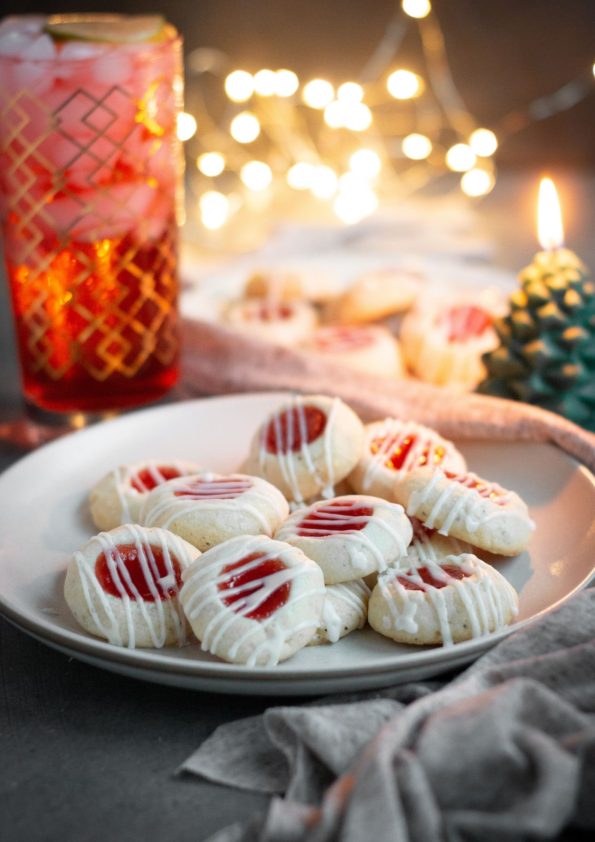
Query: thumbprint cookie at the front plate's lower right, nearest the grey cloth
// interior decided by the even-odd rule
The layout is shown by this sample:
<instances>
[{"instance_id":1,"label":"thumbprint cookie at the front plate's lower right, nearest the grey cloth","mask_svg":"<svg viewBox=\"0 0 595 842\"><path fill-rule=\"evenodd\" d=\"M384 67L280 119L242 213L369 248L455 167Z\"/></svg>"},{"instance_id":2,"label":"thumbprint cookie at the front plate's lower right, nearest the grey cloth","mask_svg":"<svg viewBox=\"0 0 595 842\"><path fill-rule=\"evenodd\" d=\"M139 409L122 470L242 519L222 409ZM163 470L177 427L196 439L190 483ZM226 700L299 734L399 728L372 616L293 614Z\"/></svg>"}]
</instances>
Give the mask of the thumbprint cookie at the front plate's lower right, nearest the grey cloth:
<instances>
[{"instance_id":1,"label":"thumbprint cookie at the front plate's lower right, nearest the grey cloth","mask_svg":"<svg viewBox=\"0 0 595 842\"><path fill-rule=\"evenodd\" d=\"M513 622L518 597L497 570L474 555L440 562L416 557L378 576L368 606L375 631L398 643L449 646Z\"/></svg>"}]
</instances>

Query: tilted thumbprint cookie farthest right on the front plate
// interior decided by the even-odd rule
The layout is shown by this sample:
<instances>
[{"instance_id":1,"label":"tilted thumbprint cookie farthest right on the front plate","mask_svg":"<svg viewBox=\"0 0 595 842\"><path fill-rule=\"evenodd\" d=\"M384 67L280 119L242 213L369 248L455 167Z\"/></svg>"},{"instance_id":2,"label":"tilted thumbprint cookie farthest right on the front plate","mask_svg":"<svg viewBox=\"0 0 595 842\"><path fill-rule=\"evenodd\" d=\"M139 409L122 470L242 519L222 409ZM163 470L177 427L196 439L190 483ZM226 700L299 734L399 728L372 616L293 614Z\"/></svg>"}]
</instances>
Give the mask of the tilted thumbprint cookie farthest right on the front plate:
<instances>
[{"instance_id":1,"label":"tilted thumbprint cookie farthest right on the front plate","mask_svg":"<svg viewBox=\"0 0 595 842\"><path fill-rule=\"evenodd\" d=\"M429 529L499 555L525 550L535 529L518 494L469 472L418 468L397 484L394 495Z\"/></svg>"}]
</instances>

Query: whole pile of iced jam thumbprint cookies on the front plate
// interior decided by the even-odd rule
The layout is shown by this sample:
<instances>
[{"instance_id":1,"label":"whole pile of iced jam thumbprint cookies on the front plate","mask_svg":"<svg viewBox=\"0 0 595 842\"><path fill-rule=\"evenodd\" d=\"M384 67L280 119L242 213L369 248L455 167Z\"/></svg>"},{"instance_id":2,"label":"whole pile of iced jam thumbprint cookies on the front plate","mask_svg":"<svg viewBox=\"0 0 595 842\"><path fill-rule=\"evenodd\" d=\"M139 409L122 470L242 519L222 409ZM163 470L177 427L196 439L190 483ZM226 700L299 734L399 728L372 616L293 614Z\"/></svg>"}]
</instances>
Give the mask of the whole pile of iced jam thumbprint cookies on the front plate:
<instances>
[{"instance_id":1,"label":"whole pile of iced jam thumbprint cookies on the front plate","mask_svg":"<svg viewBox=\"0 0 595 842\"><path fill-rule=\"evenodd\" d=\"M252 666L366 621L413 644L495 631L514 619L517 596L477 553L514 555L533 529L517 494L469 472L433 430L364 426L321 395L266 418L241 473L121 467L90 503L103 531L65 583L80 625L129 647L193 633L203 650Z\"/></svg>"}]
</instances>

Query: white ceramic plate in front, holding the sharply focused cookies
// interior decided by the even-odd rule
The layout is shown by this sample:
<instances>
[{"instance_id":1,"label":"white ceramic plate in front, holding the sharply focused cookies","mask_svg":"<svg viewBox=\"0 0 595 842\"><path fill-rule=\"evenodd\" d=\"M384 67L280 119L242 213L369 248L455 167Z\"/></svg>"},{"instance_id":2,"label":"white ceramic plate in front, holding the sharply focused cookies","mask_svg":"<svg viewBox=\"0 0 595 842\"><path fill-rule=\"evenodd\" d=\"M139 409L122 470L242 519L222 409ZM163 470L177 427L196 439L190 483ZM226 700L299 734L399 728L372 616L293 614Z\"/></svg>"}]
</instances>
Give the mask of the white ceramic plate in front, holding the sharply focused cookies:
<instances>
[{"instance_id":1,"label":"white ceramic plate in front, holding the sharply focused cookies","mask_svg":"<svg viewBox=\"0 0 595 842\"><path fill-rule=\"evenodd\" d=\"M128 650L78 628L62 587L70 554L95 531L86 505L90 487L113 466L149 458L185 458L233 471L259 422L282 398L233 396L136 412L47 445L6 471L0 476L0 610L49 646L105 669L181 687L263 695L418 679L466 663L508 634L417 648L368 629L334 646L303 649L278 667L256 669L223 663L197 644ZM465 443L461 449L477 473L518 491L537 522L530 553L498 565L520 593L518 628L588 583L595 480L548 445Z\"/></svg>"}]
</instances>

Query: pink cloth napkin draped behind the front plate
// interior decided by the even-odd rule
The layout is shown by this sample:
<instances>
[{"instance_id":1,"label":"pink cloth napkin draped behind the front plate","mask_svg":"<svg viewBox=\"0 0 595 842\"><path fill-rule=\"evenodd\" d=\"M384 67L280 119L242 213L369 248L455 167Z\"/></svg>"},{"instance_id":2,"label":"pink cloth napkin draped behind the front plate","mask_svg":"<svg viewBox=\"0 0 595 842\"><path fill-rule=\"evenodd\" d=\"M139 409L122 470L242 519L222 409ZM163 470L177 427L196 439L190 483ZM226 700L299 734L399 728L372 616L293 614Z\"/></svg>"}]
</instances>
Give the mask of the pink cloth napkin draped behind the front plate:
<instances>
[{"instance_id":1,"label":"pink cloth napkin draped behind the front plate","mask_svg":"<svg viewBox=\"0 0 595 842\"><path fill-rule=\"evenodd\" d=\"M595 471L595 434L524 403L457 395L416 380L359 374L315 354L186 321L181 393L186 396L289 390L342 398L364 419L411 419L452 439L550 442Z\"/></svg>"}]
</instances>

